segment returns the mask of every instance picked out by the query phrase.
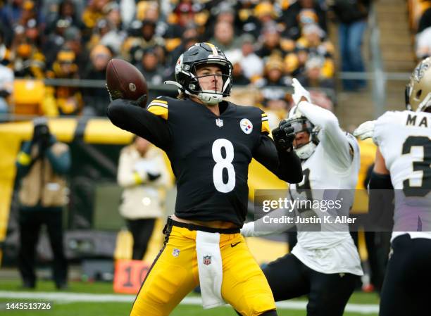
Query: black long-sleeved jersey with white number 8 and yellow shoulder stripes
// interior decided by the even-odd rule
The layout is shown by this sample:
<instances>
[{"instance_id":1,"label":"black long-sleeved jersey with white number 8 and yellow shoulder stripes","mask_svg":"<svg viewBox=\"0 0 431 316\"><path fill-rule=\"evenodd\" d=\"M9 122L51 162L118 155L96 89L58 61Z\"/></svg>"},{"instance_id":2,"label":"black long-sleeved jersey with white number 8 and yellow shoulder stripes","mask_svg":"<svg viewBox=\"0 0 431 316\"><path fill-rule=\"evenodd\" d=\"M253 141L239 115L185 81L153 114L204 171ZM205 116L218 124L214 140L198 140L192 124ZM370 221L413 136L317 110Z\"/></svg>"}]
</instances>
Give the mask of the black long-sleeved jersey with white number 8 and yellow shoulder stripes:
<instances>
[{"instance_id":1,"label":"black long-sleeved jersey with white number 8 and yellow shoulder stripes","mask_svg":"<svg viewBox=\"0 0 431 316\"><path fill-rule=\"evenodd\" d=\"M108 116L118 127L167 153L177 179L177 217L222 220L240 227L247 211L251 158L286 181L289 177L301 181L301 163L294 154L280 157L277 153L261 109L226 101L219 106L223 112L217 116L190 99L161 96L147 110L115 100ZM291 168L295 172L287 171Z\"/></svg>"}]
</instances>

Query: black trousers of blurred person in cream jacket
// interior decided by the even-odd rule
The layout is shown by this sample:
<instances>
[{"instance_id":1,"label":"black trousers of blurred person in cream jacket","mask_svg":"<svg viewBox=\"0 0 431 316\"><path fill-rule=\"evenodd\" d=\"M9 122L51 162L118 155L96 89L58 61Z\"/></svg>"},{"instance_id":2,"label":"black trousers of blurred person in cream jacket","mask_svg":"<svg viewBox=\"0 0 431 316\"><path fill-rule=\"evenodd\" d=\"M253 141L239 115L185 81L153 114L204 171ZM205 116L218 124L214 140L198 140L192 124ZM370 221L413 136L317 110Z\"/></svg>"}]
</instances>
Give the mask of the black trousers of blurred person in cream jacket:
<instances>
[{"instance_id":1,"label":"black trousers of blurred person in cream jacket","mask_svg":"<svg viewBox=\"0 0 431 316\"><path fill-rule=\"evenodd\" d=\"M133 236L133 260L142 260L146 253L151 234L153 234L155 218L140 218L138 220L127 220L127 228Z\"/></svg>"}]
</instances>

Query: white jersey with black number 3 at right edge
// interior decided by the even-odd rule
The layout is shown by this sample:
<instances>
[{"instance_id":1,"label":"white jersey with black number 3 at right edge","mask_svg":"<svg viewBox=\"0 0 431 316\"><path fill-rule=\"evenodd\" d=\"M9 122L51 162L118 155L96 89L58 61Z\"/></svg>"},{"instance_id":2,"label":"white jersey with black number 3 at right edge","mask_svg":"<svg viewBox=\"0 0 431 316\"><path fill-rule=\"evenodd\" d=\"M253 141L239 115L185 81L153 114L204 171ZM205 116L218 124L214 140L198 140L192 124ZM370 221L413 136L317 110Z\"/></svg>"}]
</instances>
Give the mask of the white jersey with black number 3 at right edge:
<instances>
[{"instance_id":1,"label":"white jersey with black number 3 at right edge","mask_svg":"<svg viewBox=\"0 0 431 316\"><path fill-rule=\"evenodd\" d=\"M389 111L375 122L373 140L395 189L392 239L431 239L431 113Z\"/></svg>"}]
</instances>

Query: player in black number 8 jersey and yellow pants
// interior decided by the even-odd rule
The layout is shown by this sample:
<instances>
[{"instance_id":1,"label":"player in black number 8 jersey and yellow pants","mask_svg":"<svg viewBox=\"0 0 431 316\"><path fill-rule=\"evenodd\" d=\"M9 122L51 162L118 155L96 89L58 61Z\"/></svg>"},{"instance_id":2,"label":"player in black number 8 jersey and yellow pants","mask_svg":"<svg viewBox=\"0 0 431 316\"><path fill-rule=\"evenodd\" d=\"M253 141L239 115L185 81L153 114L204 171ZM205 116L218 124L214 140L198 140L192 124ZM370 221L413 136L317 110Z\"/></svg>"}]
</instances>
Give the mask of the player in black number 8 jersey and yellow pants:
<instances>
[{"instance_id":1,"label":"player in black number 8 jersey and yellow pants","mask_svg":"<svg viewBox=\"0 0 431 316\"><path fill-rule=\"evenodd\" d=\"M230 94L232 64L213 44L185 51L175 80L168 83L179 88L179 99L159 96L146 109L134 106L140 100L117 99L108 106L114 125L166 152L177 179L165 244L130 315L169 315L198 284L204 308L227 302L244 316L277 315L268 282L239 229L247 212L251 158L280 179L301 181L292 130L278 132L273 141L262 110L223 101Z\"/></svg>"}]
</instances>

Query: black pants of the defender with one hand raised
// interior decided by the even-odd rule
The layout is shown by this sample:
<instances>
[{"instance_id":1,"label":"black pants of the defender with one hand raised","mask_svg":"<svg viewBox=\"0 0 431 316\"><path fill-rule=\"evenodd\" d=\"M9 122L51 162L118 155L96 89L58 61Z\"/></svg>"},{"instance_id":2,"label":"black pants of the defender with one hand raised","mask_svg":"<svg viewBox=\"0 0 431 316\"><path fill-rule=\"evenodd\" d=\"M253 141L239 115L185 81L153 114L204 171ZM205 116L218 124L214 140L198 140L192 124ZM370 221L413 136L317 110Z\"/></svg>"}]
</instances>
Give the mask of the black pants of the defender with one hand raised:
<instances>
[{"instance_id":1,"label":"black pants of the defender with one hand raised","mask_svg":"<svg viewBox=\"0 0 431 316\"><path fill-rule=\"evenodd\" d=\"M308 296L308 316L341 316L358 276L310 269L291 253L263 269L275 301Z\"/></svg>"}]
</instances>

